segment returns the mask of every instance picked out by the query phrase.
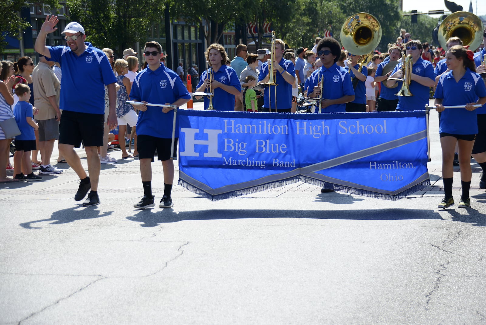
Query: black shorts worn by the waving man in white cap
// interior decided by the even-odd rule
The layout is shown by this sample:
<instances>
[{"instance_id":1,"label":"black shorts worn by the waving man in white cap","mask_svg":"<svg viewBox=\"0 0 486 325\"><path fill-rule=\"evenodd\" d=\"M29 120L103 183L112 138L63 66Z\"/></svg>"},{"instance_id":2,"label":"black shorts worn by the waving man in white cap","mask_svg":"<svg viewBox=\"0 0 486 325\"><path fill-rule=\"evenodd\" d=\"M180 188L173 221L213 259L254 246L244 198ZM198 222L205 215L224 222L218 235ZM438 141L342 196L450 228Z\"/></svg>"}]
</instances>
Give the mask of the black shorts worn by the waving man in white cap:
<instances>
[{"instance_id":1,"label":"black shorts worn by the waving man in white cap","mask_svg":"<svg viewBox=\"0 0 486 325\"><path fill-rule=\"evenodd\" d=\"M103 146L104 114L63 110L59 123L59 143L76 148Z\"/></svg>"}]
</instances>

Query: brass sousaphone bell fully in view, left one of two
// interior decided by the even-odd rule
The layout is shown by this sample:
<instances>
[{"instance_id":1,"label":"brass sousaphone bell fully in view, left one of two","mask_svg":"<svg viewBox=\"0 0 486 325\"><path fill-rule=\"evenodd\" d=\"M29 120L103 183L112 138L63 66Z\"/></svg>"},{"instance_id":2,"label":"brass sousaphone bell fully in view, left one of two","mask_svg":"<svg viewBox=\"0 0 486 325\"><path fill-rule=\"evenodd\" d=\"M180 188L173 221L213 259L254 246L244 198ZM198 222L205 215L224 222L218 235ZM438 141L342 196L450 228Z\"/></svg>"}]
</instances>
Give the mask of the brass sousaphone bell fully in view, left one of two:
<instances>
[{"instance_id":1,"label":"brass sousaphone bell fully in view, left one of two","mask_svg":"<svg viewBox=\"0 0 486 325\"><path fill-rule=\"evenodd\" d=\"M369 55L382 39L382 27L373 15L357 13L347 18L341 27L341 44L351 54ZM362 64L366 63L362 58Z\"/></svg>"}]
</instances>

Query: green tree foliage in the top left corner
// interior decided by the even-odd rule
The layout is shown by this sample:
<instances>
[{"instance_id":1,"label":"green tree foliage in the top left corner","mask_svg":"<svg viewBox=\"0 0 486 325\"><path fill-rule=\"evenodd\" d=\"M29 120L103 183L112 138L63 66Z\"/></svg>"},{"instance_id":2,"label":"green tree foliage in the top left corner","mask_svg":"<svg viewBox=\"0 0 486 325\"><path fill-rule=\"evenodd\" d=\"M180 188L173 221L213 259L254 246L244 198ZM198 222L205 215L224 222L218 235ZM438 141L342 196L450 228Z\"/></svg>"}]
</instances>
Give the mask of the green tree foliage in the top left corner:
<instances>
[{"instance_id":1,"label":"green tree foliage in the top left corner","mask_svg":"<svg viewBox=\"0 0 486 325\"><path fill-rule=\"evenodd\" d=\"M59 2L56 0L47 0L44 1L44 4L49 5L51 8L59 7ZM0 19L0 52L7 46L7 42L5 42L7 35L21 39L18 31L30 26L27 21L20 17L20 10L25 6L27 6L25 0L0 1L0 12L2 13Z\"/></svg>"}]
</instances>

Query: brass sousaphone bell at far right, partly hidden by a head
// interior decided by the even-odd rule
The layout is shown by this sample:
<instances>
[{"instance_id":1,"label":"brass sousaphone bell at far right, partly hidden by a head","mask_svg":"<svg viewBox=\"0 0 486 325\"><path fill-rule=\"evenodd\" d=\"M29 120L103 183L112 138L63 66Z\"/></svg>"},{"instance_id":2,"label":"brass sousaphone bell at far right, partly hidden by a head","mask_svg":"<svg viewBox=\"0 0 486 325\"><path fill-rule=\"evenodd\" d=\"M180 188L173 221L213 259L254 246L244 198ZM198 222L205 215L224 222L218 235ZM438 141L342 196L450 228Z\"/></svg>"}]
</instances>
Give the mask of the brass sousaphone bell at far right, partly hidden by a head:
<instances>
[{"instance_id":1,"label":"brass sousaphone bell at far right, partly hidden by a head","mask_svg":"<svg viewBox=\"0 0 486 325\"><path fill-rule=\"evenodd\" d=\"M484 25L479 17L465 11L456 11L440 23L437 31L439 44L446 49L449 38L457 36L464 46L474 52L483 41Z\"/></svg>"}]
</instances>

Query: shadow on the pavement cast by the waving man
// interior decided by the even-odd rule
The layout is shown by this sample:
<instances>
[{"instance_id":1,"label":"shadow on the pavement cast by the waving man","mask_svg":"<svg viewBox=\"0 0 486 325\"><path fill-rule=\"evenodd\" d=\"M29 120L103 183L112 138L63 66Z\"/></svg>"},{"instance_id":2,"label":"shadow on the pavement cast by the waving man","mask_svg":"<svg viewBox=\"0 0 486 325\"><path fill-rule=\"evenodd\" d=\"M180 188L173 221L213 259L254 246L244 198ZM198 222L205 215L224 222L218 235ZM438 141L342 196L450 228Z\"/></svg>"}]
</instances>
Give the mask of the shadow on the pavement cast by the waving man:
<instances>
[{"instance_id":1,"label":"shadow on the pavement cast by the waving man","mask_svg":"<svg viewBox=\"0 0 486 325\"><path fill-rule=\"evenodd\" d=\"M79 209L79 210L78 210ZM61 224L61 223L69 223L76 220L82 219L94 219L94 218L101 218L109 216L113 213L113 211L106 211L101 213L101 211L97 210L96 207L93 206L74 206L68 209L62 209L59 211L54 211L49 219L40 219L30 222L23 222L20 223L20 226L26 229L42 229L42 227L33 227L32 223L35 222L49 222L49 224Z\"/></svg>"}]
</instances>

